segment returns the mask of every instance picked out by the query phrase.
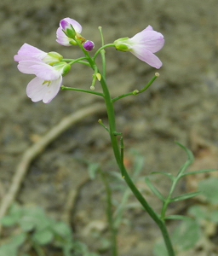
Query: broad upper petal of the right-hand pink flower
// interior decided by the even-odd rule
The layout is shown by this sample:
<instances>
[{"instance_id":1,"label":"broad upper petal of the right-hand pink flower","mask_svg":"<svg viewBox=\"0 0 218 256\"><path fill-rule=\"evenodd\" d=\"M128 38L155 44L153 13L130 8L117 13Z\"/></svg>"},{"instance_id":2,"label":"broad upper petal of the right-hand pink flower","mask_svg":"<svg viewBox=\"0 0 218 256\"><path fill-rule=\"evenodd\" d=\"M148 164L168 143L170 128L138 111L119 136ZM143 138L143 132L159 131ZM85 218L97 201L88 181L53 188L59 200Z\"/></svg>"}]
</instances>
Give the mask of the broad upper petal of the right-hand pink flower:
<instances>
[{"instance_id":1,"label":"broad upper petal of the right-hand pink flower","mask_svg":"<svg viewBox=\"0 0 218 256\"><path fill-rule=\"evenodd\" d=\"M141 47L143 46L152 53L157 52L164 46L164 36L161 33L146 29L137 33L133 38L130 38L129 41L132 44L139 44Z\"/></svg>"}]
</instances>

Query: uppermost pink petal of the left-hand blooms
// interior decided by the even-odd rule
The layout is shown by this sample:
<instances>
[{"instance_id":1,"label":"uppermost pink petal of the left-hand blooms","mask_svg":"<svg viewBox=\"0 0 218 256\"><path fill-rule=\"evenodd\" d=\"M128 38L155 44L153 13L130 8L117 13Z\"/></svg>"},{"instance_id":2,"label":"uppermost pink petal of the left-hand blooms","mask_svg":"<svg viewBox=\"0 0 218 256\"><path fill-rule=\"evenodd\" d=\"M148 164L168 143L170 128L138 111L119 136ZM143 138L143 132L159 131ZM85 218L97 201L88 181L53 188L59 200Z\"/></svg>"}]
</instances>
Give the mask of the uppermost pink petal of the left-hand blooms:
<instances>
[{"instance_id":1,"label":"uppermost pink petal of the left-hand blooms","mask_svg":"<svg viewBox=\"0 0 218 256\"><path fill-rule=\"evenodd\" d=\"M14 55L14 61L25 61L32 58L43 60L46 55L47 53L41 49L37 49L30 44L23 44L17 55Z\"/></svg>"}]
</instances>

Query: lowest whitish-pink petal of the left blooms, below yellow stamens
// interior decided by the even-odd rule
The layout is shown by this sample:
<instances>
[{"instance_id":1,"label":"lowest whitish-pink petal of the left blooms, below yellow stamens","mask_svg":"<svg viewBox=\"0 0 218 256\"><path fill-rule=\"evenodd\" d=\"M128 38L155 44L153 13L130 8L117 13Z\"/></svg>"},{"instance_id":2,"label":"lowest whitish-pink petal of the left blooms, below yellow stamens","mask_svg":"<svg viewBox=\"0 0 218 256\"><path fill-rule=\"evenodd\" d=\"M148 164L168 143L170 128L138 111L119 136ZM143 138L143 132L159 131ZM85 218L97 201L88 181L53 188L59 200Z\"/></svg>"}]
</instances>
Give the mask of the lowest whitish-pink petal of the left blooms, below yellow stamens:
<instances>
[{"instance_id":1,"label":"lowest whitish-pink petal of the left blooms, below yellow stamens","mask_svg":"<svg viewBox=\"0 0 218 256\"><path fill-rule=\"evenodd\" d=\"M60 90L62 77L51 82L45 82L43 79L32 79L26 87L26 94L32 99L32 102L42 101L49 103L54 99Z\"/></svg>"}]
</instances>

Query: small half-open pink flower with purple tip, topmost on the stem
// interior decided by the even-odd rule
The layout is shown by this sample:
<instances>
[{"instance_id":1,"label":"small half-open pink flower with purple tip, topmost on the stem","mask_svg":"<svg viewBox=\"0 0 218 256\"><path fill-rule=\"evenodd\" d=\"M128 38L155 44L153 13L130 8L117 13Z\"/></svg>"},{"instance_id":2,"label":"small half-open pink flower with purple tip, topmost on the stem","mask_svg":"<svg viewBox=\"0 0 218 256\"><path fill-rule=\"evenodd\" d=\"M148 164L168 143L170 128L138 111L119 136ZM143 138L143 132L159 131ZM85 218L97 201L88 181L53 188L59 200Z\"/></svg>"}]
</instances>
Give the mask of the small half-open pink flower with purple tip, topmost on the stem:
<instances>
[{"instance_id":1,"label":"small half-open pink flower with purple tip, topmost on the stem","mask_svg":"<svg viewBox=\"0 0 218 256\"><path fill-rule=\"evenodd\" d=\"M76 32L76 34L75 34ZM56 41L64 46L71 46L72 44L77 44L73 39L77 34L82 32L82 26L73 19L65 18L60 20L60 27L57 29Z\"/></svg>"}]
</instances>

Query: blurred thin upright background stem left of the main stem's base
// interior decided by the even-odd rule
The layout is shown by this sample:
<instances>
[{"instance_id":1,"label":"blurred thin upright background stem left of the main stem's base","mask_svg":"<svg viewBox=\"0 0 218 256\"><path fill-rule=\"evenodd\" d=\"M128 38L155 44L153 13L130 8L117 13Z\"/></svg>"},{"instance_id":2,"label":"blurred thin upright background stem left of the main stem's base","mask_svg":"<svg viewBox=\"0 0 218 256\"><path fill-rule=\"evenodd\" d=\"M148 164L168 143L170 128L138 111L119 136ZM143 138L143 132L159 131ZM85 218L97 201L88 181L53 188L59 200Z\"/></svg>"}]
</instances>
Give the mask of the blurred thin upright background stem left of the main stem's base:
<instances>
[{"instance_id":1,"label":"blurred thin upright background stem left of the main stem's base","mask_svg":"<svg viewBox=\"0 0 218 256\"><path fill-rule=\"evenodd\" d=\"M109 224L109 229L111 232L111 242L112 242L112 256L118 256L118 241L117 235L118 230L114 226L113 212L112 212L112 189L107 181L106 174L100 170L100 175L103 183L106 187L106 217Z\"/></svg>"}]
</instances>

